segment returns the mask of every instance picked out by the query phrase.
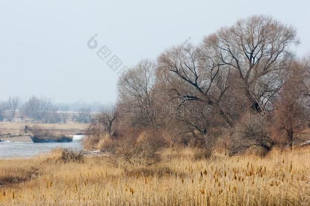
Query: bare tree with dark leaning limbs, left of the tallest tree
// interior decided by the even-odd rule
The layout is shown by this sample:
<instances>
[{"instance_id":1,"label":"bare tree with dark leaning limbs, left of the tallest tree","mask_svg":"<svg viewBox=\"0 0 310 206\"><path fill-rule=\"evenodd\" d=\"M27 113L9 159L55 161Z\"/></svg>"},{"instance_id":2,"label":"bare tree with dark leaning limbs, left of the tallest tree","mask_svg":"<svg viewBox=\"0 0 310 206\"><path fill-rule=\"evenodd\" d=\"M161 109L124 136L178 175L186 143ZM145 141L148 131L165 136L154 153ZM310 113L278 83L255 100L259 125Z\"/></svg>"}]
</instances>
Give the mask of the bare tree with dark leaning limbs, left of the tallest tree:
<instances>
[{"instance_id":1,"label":"bare tree with dark leaning limbs, left of the tallest tree","mask_svg":"<svg viewBox=\"0 0 310 206\"><path fill-rule=\"evenodd\" d=\"M158 79L161 89L170 96L170 102L178 104L181 109L198 108L193 115L178 115L192 131L206 134L209 127L208 115L202 111L207 106L212 106L212 112L218 112L224 117L228 126L231 120L221 108L221 101L229 87L230 68L225 70L205 58L204 47L173 47L159 57ZM177 101L175 101L177 100Z\"/></svg>"}]
</instances>

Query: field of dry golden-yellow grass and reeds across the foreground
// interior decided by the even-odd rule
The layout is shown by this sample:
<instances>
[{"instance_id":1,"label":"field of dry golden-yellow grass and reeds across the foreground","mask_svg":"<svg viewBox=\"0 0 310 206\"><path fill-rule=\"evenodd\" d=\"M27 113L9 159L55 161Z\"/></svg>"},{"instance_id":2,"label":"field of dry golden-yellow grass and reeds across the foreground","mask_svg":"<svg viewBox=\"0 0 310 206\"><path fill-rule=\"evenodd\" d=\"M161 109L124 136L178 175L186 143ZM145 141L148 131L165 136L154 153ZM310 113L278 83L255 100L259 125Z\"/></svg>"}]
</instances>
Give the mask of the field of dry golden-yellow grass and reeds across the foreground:
<instances>
[{"instance_id":1,"label":"field of dry golden-yellow grass and reeds across the foreground","mask_svg":"<svg viewBox=\"0 0 310 206\"><path fill-rule=\"evenodd\" d=\"M189 149L167 150L161 162L127 170L105 157L67 164L47 158L0 160L0 205L308 205L310 200L309 148L199 161ZM14 177L19 184L8 183Z\"/></svg>"}]
</instances>

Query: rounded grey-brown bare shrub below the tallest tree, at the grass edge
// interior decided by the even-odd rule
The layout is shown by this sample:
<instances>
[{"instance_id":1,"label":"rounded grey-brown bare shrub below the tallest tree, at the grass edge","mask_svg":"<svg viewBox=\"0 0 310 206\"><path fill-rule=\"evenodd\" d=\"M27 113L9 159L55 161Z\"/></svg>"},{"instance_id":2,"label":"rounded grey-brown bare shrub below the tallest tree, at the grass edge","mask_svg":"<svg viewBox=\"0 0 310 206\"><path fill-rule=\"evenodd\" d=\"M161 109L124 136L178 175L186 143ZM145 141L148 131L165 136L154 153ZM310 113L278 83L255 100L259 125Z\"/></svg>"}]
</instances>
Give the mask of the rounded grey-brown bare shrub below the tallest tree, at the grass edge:
<instances>
[{"instance_id":1,"label":"rounded grey-brown bare shrub below the tallest tree, at the grass edge","mask_svg":"<svg viewBox=\"0 0 310 206\"><path fill-rule=\"evenodd\" d=\"M273 146L267 119L260 114L243 115L233 129L232 138L230 155L242 153L253 146L258 146L268 152Z\"/></svg>"}]
</instances>

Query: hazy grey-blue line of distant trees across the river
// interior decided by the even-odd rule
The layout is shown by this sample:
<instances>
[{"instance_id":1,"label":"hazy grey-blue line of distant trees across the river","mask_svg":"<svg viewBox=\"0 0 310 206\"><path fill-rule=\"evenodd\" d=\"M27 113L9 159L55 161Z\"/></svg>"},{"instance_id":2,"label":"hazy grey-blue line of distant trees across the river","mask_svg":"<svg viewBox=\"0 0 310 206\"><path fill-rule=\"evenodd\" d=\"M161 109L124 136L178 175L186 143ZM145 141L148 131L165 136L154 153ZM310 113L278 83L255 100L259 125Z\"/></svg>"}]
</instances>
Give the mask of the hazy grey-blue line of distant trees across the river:
<instances>
[{"instance_id":1,"label":"hazy grey-blue line of distant trees across the river","mask_svg":"<svg viewBox=\"0 0 310 206\"><path fill-rule=\"evenodd\" d=\"M0 102L0 122L89 123L99 107L100 103L53 103L49 98L36 96L22 102L14 96Z\"/></svg>"}]
</instances>

